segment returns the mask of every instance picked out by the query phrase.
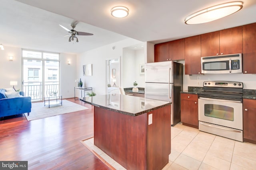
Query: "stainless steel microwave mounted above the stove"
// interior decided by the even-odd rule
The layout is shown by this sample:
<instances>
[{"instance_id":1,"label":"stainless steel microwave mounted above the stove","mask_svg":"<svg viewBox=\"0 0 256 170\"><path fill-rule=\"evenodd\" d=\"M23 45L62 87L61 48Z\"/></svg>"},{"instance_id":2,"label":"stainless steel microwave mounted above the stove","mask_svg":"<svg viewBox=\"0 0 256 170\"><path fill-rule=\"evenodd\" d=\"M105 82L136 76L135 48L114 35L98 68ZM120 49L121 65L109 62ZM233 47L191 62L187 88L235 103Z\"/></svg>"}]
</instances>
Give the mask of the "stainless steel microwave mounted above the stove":
<instances>
[{"instance_id":1,"label":"stainless steel microwave mounted above the stove","mask_svg":"<svg viewBox=\"0 0 256 170\"><path fill-rule=\"evenodd\" d=\"M242 72L242 54L201 57L203 74L225 74Z\"/></svg>"}]
</instances>

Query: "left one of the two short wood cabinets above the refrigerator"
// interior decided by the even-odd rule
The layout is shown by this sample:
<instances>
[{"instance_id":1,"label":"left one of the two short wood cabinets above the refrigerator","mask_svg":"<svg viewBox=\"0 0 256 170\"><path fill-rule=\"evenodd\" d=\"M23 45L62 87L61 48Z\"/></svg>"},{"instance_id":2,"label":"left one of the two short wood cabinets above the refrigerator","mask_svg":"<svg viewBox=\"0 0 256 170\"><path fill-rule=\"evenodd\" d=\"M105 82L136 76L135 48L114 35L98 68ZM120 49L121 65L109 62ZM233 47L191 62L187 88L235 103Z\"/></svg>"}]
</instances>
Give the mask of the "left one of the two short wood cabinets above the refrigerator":
<instances>
[{"instance_id":1,"label":"left one of the two short wood cabinets above the refrigerator","mask_svg":"<svg viewBox=\"0 0 256 170\"><path fill-rule=\"evenodd\" d=\"M169 43L160 43L154 45L154 60L155 62L168 61L169 60Z\"/></svg>"}]
</instances>

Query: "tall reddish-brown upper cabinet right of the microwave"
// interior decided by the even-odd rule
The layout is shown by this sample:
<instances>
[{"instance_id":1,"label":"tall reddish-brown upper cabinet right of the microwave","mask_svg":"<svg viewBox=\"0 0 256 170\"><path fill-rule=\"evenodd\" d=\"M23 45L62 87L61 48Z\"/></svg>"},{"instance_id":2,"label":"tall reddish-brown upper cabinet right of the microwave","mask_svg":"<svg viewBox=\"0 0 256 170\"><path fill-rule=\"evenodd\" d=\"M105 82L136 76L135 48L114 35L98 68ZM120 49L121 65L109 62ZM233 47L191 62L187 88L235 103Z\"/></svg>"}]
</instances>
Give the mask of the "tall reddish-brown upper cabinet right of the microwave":
<instances>
[{"instance_id":1,"label":"tall reddish-brown upper cabinet right of the microwave","mask_svg":"<svg viewBox=\"0 0 256 170\"><path fill-rule=\"evenodd\" d=\"M256 23L243 25L243 72L256 74Z\"/></svg>"}]
</instances>

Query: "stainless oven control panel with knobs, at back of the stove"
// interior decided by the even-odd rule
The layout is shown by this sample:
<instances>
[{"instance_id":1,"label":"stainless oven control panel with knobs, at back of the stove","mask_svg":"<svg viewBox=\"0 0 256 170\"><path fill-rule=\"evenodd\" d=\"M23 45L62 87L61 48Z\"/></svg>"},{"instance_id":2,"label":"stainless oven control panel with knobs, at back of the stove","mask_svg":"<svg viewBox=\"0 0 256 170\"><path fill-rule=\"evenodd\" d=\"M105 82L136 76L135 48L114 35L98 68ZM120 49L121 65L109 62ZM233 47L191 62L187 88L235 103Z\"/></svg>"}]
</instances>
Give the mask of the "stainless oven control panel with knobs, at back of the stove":
<instances>
[{"instance_id":1,"label":"stainless oven control panel with knobs, at back of the stove","mask_svg":"<svg viewBox=\"0 0 256 170\"><path fill-rule=\"evenodd\" d=\"M204 82L204 87L243 88L243 83L242 82L229 82L229 81L208 81L208 82Z\"/></svg>"}]
</instances>

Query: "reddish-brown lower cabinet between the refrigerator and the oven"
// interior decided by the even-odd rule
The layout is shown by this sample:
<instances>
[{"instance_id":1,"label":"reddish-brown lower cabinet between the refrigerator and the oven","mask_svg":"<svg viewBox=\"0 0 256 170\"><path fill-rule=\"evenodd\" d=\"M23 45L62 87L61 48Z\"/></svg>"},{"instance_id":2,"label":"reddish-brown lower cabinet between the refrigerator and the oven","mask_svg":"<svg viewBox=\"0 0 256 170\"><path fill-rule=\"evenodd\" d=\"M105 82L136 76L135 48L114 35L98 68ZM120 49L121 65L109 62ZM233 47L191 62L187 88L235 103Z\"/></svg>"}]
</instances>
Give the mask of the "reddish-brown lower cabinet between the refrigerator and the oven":
<instances>
[{"instance_id":1,"label":"reddish-brown lower cabinet between the refrigerator and the oven","mask_svg":"<svg viewBox=\"0 0 256 170\"><path fill-rule=\"evenodd\" d=\"M182 93L180 102L182 124L198 129L198 95Z\"/></svg>"}]
</instances>

